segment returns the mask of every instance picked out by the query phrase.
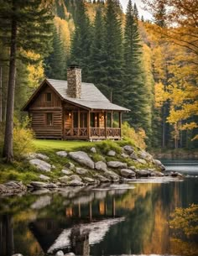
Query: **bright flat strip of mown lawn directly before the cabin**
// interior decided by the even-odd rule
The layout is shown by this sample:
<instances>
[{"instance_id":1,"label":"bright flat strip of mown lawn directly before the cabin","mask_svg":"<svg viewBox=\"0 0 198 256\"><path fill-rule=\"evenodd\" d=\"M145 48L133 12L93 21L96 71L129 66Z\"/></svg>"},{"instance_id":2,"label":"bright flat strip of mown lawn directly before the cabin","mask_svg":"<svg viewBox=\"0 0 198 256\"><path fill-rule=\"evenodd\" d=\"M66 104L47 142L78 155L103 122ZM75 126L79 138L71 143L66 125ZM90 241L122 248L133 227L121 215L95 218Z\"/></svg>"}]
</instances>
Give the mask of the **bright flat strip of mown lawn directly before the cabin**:
<instances>
[{"instance_id":1,"label":"bright flat strip of mown lawn directly before the cabin","mask_svg":"<svg viewBox=\"0 0 198 256\"><path fill-rule=\"evenodd\" d=\"M39 150L68 150L71 151L76 148L85 146L92 146L96 144L90 141L65 141L65 140L53 140L53 139L34 139L34 145L36 151Z\"/></svg>"}]
</instances>

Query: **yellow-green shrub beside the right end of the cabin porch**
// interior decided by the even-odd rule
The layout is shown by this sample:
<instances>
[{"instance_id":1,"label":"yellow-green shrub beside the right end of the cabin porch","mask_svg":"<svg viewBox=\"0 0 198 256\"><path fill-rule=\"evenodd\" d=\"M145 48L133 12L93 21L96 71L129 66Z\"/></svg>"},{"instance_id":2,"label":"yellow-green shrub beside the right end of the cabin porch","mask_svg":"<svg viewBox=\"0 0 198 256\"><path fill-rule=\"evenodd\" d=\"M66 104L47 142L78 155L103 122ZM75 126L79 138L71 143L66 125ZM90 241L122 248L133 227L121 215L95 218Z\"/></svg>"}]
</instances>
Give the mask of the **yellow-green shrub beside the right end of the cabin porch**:
<instances>
[{"instance_id":1,"label":"yellow-green shrub beside the right end of the cabin porch","mask_svg":"<svg viewBox=\"0 0 198 256\"><path fill-rule=\"evenodd\" d=\"M138 128L135 131L130 127L128 122L122 123L122 137L126 140L131 140L132 144L136 145L140 149L146 149L145 139L147 138L143 128Z\"/></svg>"}]
</instances>

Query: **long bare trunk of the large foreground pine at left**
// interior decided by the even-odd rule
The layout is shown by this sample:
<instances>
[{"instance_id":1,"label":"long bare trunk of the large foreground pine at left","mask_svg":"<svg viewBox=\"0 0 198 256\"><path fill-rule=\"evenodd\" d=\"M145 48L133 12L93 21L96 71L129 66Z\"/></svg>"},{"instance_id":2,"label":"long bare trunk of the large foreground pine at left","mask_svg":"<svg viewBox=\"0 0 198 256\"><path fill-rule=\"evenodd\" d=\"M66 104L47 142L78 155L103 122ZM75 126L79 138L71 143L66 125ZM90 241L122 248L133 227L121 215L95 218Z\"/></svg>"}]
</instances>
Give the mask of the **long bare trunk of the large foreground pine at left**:
<instances>
[{"instance_id":1,"label":"long bare trunk of the large foreground pine at left","mask_svg":"<svg viewBox=\"0 0 198 256\"><path fill-rule=\"evenodd\" d=\"M13 18L11 30L10 60L9 60L9 79L8 79L8 97L6 112L6 128L3 145L3 157L7 162L13 161L13 107L14 90L16 78L16 51L17 51L17 22Z\"/></svg>"}]
</instances>

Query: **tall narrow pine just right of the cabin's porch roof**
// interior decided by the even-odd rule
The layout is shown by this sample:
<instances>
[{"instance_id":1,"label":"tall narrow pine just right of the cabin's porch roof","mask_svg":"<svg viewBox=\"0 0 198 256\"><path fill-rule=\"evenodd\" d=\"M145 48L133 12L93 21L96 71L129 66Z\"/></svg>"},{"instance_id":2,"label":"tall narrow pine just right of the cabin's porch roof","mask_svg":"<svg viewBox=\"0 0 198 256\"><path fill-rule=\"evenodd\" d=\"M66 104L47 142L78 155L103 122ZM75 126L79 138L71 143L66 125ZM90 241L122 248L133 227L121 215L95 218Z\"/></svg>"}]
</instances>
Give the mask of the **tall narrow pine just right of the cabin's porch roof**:
<instances>
[{"instance_id":1,"label":"tall narrow pine just right of the cabin's porch roof","mask_svg":"<svg viewBox=\"0 0 198 256\"><path fill-rule=\"evenodd\" d=\"M134 128L144 128L148 133L147 102L145 97L147 88L143 84L141 57L138 24L133 16L132 1L129 0L124 32L125 106L132 109L132 112L128 114L128 122Z\"/></svg>"}]
</instances>

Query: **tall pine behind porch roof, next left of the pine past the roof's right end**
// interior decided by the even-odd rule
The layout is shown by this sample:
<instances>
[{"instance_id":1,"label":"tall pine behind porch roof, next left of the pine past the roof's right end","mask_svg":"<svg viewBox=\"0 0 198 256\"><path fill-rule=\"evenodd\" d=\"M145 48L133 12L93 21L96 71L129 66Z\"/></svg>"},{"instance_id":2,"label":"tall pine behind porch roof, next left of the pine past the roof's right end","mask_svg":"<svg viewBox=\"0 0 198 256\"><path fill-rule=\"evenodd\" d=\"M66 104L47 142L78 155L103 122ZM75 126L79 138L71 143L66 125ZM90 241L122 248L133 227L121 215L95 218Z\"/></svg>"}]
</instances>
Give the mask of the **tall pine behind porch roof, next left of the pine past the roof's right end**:
<instances>
[{"instance_id":1,"label":"tall pine behind porch roof, next left of the pine past the roof's right end","mask_svg":"<svg viewBox=\"0 0 198 256\"><path fill-rule=\"evenodd\" d=\"M107 86L112 100L118 104L124 101L122 95L122 29L117 14L117 1L107 0L105 15L105 50Z\"/></svg>"}]
</instances>

